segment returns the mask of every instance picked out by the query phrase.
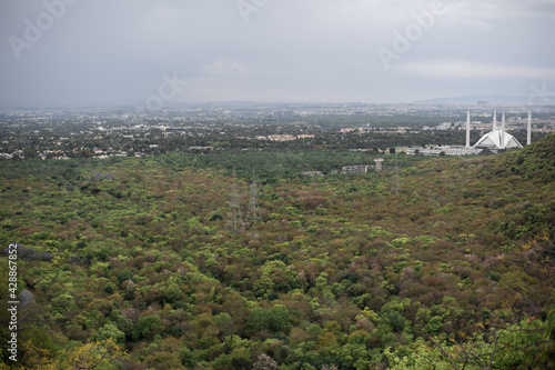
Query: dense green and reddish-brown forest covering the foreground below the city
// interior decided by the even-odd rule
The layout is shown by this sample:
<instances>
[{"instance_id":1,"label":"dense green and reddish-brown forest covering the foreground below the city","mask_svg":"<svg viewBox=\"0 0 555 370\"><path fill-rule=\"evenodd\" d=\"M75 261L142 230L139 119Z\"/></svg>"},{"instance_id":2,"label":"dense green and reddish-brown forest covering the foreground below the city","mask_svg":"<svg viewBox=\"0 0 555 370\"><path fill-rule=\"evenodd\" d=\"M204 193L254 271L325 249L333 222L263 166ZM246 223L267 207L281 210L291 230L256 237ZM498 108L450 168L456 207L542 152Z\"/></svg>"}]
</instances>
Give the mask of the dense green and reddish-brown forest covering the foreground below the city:
<instances>
[{"instance_id":1,"label":"dense green and reddish-brown forest covering the foreground below the city","mask_svg":"<svg viewBox=\"0 0 555 370\"><path fill-rule=\"evenodd\" d=\"M333 173L353 152L210 156L0 162L0 246L37 299L0 369L555 364L555 136L357 174ZM253 167L262 221L229 231Z\"/></svg>"}]
</instances>

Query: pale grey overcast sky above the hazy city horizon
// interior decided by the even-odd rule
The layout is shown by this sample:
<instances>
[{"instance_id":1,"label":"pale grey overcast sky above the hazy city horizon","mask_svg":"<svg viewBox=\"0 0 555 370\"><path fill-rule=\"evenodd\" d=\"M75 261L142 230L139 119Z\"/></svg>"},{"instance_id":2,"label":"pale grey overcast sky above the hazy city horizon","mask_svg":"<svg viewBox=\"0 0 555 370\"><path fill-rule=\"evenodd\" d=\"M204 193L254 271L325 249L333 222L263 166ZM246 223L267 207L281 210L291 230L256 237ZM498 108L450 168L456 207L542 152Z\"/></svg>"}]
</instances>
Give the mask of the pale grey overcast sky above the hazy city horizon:
<instances>
[{"instance_id":1,"label":"pale grey overcast sky above the hazy city horizon","mask_svg":"<svg viewBox=\"0 0 555 370\"><path fill-rule=\"evenodd\" d=\"M555 90L554 0L2 0L0 39L0 106Z\"/></svg>"}]
</instances>

